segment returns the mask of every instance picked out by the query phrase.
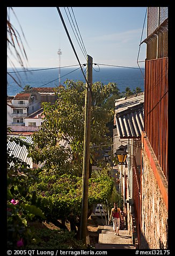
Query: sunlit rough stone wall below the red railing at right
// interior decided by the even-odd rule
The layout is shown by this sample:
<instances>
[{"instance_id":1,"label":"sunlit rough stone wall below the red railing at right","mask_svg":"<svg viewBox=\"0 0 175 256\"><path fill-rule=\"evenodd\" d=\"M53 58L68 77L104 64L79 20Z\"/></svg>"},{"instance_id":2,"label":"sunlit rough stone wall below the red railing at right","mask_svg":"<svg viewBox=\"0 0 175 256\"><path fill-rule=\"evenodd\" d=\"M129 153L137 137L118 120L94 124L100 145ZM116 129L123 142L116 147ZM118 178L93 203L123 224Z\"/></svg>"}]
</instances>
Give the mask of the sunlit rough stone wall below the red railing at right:
<instances>
[{"instance_id":1,"label":"sunlit rough stone wall below the red railing at right","mask_svg":"<svg viewBox=\"0 0 175 256\"><path fill-rule=\"evenodd\" d=\"M168 212L161 191L147 154L143 152L140 248L167 249L167 219Z\"/></svg>"}]
</instances>

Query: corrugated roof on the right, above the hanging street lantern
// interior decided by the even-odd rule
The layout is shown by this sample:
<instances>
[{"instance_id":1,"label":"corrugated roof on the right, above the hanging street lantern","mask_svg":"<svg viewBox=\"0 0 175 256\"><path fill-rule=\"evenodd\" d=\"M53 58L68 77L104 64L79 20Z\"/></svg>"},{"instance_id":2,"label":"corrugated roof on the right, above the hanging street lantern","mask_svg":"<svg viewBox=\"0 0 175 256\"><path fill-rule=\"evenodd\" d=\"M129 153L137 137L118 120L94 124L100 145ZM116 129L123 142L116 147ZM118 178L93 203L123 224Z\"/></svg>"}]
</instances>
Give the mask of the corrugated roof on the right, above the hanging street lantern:
<instances>
[{"instance_id":1,"label":"corrugated roof on the right, above the hanging street lantern","mask_svg":"<svg viewBox=\"0 0 175 256\"><path fill-rule=\"evenodd\" d=\"M121 139L140 138L143 131L144 93L115 101L115 124Z\"/></svg>"}]
</instances>

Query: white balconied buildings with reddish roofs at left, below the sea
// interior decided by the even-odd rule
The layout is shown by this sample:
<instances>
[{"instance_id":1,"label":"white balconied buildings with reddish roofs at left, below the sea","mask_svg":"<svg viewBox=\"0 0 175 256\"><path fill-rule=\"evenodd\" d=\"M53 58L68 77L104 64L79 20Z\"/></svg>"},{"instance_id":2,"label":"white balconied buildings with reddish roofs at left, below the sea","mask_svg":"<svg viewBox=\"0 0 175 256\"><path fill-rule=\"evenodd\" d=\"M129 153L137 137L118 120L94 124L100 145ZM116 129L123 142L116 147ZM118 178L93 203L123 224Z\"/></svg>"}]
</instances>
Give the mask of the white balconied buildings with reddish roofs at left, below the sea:
<instances>
[{"instance_id":1,"label":"white balconied buildings with reddish roofs at left, below the sea","mask_svg":"<svg viewBox=\"0 0 175 256\"><path fill-rule=\"evenodd\" d=\"M15 132L38 131L43 122L42 103L55 104L57 98L53 87L30 88L16 96L8 96L7 126Z\"/></svg>"}]
</instances>

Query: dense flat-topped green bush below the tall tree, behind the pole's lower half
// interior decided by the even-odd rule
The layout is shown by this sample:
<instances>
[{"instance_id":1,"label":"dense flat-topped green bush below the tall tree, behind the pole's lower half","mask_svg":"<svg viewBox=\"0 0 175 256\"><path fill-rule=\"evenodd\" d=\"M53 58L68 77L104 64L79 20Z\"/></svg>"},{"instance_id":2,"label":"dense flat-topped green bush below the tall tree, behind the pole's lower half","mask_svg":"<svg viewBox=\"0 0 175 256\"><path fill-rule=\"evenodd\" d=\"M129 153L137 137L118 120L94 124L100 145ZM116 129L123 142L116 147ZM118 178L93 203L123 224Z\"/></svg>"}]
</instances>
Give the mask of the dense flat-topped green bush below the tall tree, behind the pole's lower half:
<instances>
[{"instance_id":1,"label":"dense flat-topped green bush below the tall tree, behind the pole's lower half","mask_svg":"<svg viewBox=\"0 0 175 256\"><path fill-rule=\"evenodd\" d=\"M111 197L113 181L110 177L89 180L89 208ZM82 178L72 175L39 173L39 182L30 187L31 202L40 207L47 221L60 219L77 225L81 218ZM33 193L37 193L33 201Z\"/></svg>"}]
</instances>

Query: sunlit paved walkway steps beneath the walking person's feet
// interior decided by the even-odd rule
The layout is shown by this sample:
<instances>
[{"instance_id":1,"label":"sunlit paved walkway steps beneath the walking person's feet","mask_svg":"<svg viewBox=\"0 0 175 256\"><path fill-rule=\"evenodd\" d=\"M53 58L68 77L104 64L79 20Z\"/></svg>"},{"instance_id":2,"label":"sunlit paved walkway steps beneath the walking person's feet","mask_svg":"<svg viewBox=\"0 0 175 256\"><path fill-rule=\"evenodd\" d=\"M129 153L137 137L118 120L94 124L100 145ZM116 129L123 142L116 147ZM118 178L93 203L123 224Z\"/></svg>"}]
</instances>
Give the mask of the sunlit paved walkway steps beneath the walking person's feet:
<instances>
[{"instance_id":1,"label":"sunlit paved walkway steps beneath the walking person's feet","mask_svg":"<svg viewBox=\"0 0 175 256\"><path fill-rule=\"evenodd\" d=\"M128 230L119 230L120 236L114 235L112 225L99 226L98 244L96 249L135 249L133 245L132 236Z\"/></svg>"}]
</instances>

